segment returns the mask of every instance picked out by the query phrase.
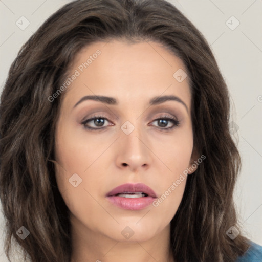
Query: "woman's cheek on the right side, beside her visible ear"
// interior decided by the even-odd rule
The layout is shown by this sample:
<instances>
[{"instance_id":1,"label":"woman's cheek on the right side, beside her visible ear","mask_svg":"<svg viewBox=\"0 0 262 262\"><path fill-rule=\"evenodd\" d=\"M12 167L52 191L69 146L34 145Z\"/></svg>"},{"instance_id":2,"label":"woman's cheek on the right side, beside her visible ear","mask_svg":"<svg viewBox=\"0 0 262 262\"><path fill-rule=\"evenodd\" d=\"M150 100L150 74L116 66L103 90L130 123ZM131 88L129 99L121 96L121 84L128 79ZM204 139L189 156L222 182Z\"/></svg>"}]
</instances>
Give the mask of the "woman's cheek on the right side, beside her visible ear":
<instances>
[{"instance_id":1,"label":"woman's cheek on the right side, beside her visible ear","mask_svg":"<svg viewBox=\"0 0 262 262\"><path fill-rule=\"evenodd\" d=\"M183 132L177 132L177 136L162 141L162 145L164 147L159 148L157 154L162 156L168 168L162 172L161 195L153 206L159 213L164 214L166 220L171 220L181 203L186 186L193 149L192 130L188 128Z\"/></svg>"}]
</instances>

